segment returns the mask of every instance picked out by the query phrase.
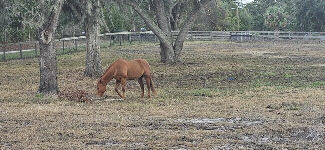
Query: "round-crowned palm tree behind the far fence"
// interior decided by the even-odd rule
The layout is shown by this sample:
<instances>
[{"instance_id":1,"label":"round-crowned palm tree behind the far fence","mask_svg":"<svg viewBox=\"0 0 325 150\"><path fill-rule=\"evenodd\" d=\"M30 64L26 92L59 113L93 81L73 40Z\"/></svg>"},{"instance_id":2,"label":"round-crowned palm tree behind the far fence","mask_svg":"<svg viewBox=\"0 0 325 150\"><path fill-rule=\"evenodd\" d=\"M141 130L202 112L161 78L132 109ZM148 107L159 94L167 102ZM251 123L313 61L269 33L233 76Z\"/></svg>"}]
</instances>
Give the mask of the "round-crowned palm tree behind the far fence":
<instances>
[{"instance_id":1,"label":"round-crowned palm tree behind the far fence","mask_svg":"<svg viewBox=\"0 0 325 150\"><path fill-rule=\"evenodd\" d=\"M280 28L286 27L288 24L288 15L284 8L277 5L270 6L266 9L264 19L264 24L275 32L278 32ZM276 36L278 37L278 33Z\"/></svg>"}]
</instances>

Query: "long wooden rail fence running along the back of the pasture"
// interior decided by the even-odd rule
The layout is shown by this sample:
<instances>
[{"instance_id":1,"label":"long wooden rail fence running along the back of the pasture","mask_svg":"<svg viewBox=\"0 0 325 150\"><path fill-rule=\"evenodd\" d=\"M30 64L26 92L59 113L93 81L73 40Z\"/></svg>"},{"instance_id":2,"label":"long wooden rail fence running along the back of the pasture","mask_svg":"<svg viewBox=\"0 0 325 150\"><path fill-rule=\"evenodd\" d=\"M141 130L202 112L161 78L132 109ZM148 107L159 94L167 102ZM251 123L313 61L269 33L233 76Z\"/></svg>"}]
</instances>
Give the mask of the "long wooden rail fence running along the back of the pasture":
<instances>
[{"instance_id":1,"label":"long wooden rail fence running along the back of the pasture","mask_svg":"<svg viewBox=\"0 0 325 150\"><path fill-rule=\"evenodd\" d=\"M179 31L172 31L173 39ZM189 31L186 41L308 41L325 42L325 32L271 32L271 31ZM152 31L100 34L100 46L159 42ZM0 44L0 61L39 56L39 41ZM85 36L55 39L58 54L85 49Z\"/></svg>"}]
</instances>

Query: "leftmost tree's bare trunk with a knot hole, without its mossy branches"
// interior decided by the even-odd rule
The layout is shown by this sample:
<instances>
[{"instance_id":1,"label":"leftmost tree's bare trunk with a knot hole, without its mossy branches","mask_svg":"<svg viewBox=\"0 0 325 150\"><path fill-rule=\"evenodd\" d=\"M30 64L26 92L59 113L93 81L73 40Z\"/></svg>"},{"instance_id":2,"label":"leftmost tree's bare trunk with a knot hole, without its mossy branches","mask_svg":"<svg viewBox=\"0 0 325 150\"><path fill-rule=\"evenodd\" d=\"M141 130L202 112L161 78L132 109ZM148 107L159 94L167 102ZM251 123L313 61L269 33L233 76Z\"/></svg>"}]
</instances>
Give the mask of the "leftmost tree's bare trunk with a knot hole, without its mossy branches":
<instances>
[{"instance_id":1,"label":"leftmost tree's bare trunk with a knot hole, without its mossy branches","mask_svg":"<svg viewBox=\"0 0 325 150\"><path fill-rule=\"evenodd\" d=\"M63 2L64 0L55 1L55 8L53 8L47 23L45 23L43 27L38 29L38 33L40 36L40 82L37 91L38 93L56 94L59 91L57 85L57 59L54 41L55 30L58 25L58 17L62 9Z\"/></svg>"}]
</instances>

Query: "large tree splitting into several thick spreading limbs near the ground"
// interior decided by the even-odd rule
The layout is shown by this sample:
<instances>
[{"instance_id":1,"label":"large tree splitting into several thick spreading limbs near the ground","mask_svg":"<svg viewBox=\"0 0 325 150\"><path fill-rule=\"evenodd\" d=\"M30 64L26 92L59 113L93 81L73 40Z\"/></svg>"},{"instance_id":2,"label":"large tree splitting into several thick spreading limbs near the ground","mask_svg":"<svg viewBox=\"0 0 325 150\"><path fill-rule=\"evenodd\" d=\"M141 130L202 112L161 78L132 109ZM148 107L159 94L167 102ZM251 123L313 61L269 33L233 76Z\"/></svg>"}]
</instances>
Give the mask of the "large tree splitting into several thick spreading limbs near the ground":
<instances>
[{"instance_id":1,"label":"large tree splitting into several thick spreading limbs near the ground","mask_svg":"<svg viewBox=\"0 0 325 150\"><path fill-rule=\"evenodd\" d=\"M173 9L180 0L114 0L121 5L130 5L144 20L146 25L160 40L160 57L162 63L180 63L181 52L187 32L195 22L198 15L204 11L204 7L214 0L193 0L193 7L186 17L184 24L175 41L171 33L171 21ZM175 1L175 2L174 2ZM177 11L177 10L176 10ZM151 13L154 12L154 15ZM178 27L176 27L178 28Z\"/></svg>"}]
</instances>

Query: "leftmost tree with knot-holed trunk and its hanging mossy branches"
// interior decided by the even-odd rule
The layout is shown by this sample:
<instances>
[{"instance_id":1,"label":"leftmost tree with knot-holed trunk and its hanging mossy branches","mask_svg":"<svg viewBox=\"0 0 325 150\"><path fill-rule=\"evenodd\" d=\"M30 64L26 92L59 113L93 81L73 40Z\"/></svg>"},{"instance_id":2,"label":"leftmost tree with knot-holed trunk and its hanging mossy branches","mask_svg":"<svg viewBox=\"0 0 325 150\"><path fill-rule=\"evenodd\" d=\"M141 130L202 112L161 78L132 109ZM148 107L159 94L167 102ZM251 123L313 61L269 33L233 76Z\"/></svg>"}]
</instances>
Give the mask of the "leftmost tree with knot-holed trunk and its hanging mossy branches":
<instances>
[{"instance_id":1,"label":"leftmost tree with knot-holed trunk and its hanging mossy branches","mask_svg":"<svg viewBox=\"0 0 325 150\"><path fill-rule=\"evenodd\" d=\"M64 0L3 0L0 3L1 6L5 6L0 12L7 13L7 17L4 17L6 21L4 26L10 26L17 21L22 26L28 25L38 30L40 48L38 93L59 92L54 41L63 3Z\"/></svg>"}]
</instances>

